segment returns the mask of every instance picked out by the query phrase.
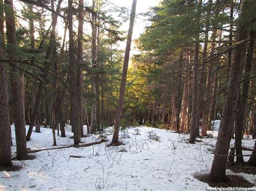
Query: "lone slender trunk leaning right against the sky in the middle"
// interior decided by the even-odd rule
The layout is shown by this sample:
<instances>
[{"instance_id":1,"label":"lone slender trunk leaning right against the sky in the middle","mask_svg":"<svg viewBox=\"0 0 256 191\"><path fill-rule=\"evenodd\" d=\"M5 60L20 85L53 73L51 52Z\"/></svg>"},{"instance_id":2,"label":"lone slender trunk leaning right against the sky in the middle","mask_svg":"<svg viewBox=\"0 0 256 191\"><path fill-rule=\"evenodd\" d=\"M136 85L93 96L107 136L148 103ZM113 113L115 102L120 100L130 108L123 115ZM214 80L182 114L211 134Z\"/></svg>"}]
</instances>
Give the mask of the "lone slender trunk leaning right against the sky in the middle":
<instances>
[{"instance_id":1,"label":"lone slender trunk leaning right against the sky in the middle","mask_svg":"<svg viewBox=\"0 0 256 191\"><path fill-rule=\"evenodd\" d=\"M119 91L119 100L118 100L118 107L116 112L116 122L114 124L112 144L118 143L119 128L121 124L121 115L122 115L122 109L124 105L125 84L126 84L127 70L129 65L129 56L130 56L131 43L132 43L132 32L133 32L134 19L136 15L136 4L137 4L137 0L133 0L131 17L130 17L130 25L129 25L129 31L127 36L125 55L124 55L124 66L123 66L121 86Z\"/></svg>"}]
</instances>

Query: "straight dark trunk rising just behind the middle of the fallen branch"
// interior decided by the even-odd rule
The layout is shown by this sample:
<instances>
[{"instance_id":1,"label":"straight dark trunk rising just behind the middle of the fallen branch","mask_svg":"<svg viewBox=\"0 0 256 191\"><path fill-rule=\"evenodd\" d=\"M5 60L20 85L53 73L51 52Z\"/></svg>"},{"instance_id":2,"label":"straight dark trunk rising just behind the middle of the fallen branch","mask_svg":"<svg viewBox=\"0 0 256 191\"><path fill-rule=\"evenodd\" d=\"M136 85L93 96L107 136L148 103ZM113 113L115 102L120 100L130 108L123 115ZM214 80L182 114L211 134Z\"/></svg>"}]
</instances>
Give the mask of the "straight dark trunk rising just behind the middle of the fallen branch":
<instances>
[{"instance_id":1,"label":"straight dark trunk rising just behind the middle of the fallen branch","mask_svg":"<svg viewBox=\"0 0 256 191\"><path fill-rule=\"evenodd\" d=\"M70 119L74 134L74 144L79 145L79 128L78 128L78 116L77 110L79 109L77 105L77 65L75 60L74 42L73 42L73 5L72 0L69 0L69 83L70 83Z\"/></svg>"}]
</instances>

